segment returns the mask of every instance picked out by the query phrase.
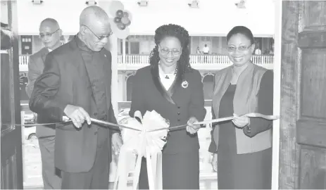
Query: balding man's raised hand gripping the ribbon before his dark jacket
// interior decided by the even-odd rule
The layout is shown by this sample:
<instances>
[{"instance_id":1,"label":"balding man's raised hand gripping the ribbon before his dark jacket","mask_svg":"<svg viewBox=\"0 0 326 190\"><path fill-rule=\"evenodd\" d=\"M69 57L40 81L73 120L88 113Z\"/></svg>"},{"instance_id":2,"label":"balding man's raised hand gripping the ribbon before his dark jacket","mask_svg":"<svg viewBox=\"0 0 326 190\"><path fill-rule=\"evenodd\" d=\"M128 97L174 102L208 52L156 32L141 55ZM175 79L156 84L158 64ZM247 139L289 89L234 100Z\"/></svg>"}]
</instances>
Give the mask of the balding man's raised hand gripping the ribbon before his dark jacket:
<instances>
[{"instance_id":1,"label":"balding man's raised hand gripping the ribbon before his dark jacket","mask_svg":"<svg viewBox=\"0 0 326 190\"><path fill-rule=\"evenodd\" d=\"M63 110L65 115L67 115L70 120L73 121L73 124L75 127L80 128L82 127L82 124L86 120L88 125L91 124L91 118L89 117L89 114L82 108L78 106L73 105L67 105L65 106L65 110Z\"/></svg>"}]
</instances>

